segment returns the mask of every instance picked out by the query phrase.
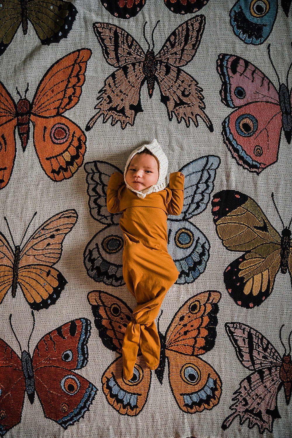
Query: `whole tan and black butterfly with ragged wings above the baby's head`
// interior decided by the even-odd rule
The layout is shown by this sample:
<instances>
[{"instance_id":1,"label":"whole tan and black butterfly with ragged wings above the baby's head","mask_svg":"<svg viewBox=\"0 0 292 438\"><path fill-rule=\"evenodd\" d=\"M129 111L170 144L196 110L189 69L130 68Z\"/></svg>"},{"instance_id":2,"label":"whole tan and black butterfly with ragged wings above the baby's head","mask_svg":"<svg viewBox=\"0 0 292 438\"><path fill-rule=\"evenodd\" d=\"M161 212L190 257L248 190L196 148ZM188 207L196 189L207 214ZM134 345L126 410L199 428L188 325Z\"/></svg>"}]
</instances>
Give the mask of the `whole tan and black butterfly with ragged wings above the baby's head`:
<instances>
[{"instance_id":1,"label":"whole tan and black butterfly with ragged wings above the baby's head","mask_svg":"<svg viewBox=\"0 0 292 438\"><path fill-rule=\"evenodd\" d=\"M146 22L147 23L147 22ZM98 112L89 120L85 131L89 131L96 120L103 116L103 123L112 117L112 126L121 123L122 129L127 124L134 125L137 113L143 112L141 106L141 88L146 81L149 98L152 97L155 81L161 95L161 102L167 108L169 120L175 115L180 123L190 120L198 126L200 116L209 130L213 132L211 120L204 113L204 96L202 88L182 67L195 56L204 32L205 17L198 15L179 25L169 35L162 49L155 55L153 33L152 49L148 44L147 53L135 39L122 28L109 23L94 23L93 30L102 46L102 53L107 63L118 69L106 78L104 87L99 91Z\"/></svg>"}]
</instances>

